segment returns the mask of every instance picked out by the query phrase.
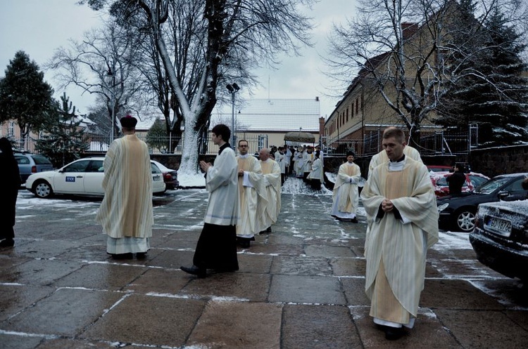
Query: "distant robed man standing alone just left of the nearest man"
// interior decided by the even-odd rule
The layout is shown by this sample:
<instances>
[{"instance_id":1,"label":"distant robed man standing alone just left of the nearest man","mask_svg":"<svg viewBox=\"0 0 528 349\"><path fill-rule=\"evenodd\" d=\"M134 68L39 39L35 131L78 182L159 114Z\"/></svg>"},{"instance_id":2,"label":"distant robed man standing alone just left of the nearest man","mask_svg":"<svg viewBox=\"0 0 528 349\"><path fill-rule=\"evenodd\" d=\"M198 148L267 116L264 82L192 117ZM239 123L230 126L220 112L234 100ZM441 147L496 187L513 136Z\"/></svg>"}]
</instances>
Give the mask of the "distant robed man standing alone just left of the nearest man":
<instances>
[{"instance_id":1,"label":"distant robed man standing alone just left of the nearest man","mask_svg":"<svg viewBox=\"0 0 528 349\"><path fill-rule=\"evenodd\" d=\"M332 217L344 222L358 223L356 217L359 206L358 183L361 170L354 164L354 153L346 153L346 162L339 166L332 193Z\"/></svg>"}]
</instances>

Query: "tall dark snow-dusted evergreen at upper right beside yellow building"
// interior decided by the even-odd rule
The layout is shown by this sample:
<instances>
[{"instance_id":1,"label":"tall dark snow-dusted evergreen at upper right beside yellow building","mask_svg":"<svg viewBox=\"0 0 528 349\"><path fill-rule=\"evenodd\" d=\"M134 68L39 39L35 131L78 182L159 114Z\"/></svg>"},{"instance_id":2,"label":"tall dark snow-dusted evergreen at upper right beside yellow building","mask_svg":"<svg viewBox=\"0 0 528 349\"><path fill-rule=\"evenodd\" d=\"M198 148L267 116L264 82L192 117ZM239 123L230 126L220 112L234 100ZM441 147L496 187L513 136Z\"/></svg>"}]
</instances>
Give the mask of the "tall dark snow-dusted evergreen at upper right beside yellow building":
<instances>
[{"instance_id":1,"label":"tall dark snow-dusted evergreen at upper right beside yellow building","mask_svg":"<svg viewBox=\"0 0 528 349\"><path fill-rule=\"evenodd\" d=\"M520 35L496 8L477 26L472 0L460 1L453 20L450 55L453 76L439 107L438 124L479 126L479 146L514 145L527 139L528 81Z\"/></svg>"}]
</instances>

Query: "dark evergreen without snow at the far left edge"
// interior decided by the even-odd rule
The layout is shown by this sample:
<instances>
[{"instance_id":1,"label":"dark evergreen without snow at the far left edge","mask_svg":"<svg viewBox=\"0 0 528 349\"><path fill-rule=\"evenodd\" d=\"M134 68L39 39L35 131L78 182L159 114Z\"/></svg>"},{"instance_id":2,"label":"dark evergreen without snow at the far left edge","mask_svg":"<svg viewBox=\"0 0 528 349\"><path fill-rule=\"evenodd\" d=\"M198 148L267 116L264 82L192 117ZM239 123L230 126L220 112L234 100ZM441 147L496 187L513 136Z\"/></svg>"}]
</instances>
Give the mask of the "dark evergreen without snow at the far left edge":
<instances>
[{"instance_id":1,"label":"dark evergreen without snow at the far left edge","mask_svg":"<svg viewBox=\"0 0 528 349\"><path fill-rule=\"evenodd\" d=\"M44 81L44 73L24 51L9 61L0 79L0 122L16 120L22 137L39 131L54 111L54 90Z\"/></svg>"}]
</instances>

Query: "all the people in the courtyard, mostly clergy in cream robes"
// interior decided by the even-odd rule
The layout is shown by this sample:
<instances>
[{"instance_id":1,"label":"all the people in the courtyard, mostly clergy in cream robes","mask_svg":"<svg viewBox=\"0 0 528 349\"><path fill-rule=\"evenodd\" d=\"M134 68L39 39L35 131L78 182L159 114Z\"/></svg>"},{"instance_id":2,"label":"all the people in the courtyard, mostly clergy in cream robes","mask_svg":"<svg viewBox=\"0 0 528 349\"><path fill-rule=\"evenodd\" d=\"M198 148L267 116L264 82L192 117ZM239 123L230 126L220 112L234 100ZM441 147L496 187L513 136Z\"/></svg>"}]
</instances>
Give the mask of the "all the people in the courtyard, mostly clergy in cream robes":
<instances>
[{"instance_id":1,"label":"all the people in the courtyard, mostly clergy in cream robes","mask_svg":"<svg viewBox=\"0 0 528 349\"><path fill-rule=\"evenodd\" d=\"M113 258L143 258L150 249L153 207L151 166L146 144L135 135L137 119L120 119L125 136L113 141L103 162L105 196L96 214L107 235L106 251ZM258 159L246 140L238 141L236 155L228 141L230 129L218 124L212 140L218 145L214 164L200 162L208 203L203 228L191 266L180 269L206 277L208 270L239 270L237 244L250 247L255 235L271 232L281 209L281 187L290 174L314 189L322 182L322 154L317 147L267 148ZM360 168L354 153L339 166L331 214L358 223L359 198L367 215L365 232L365 293L370 316L389 340L413 328L424 288L427 249L438 241L438 211L426 166L417 150L406 145L401 129L389 127L382 137L384 150L372 157L368 179L358 194ZM14 244L15 202L20 178L13 150L0 139L0 246ZM460 171L460 169L458 169ZM313 183L319 183L313 184ZM528 184L527 184L528 187Z\"/></svg>"}]
</instances>

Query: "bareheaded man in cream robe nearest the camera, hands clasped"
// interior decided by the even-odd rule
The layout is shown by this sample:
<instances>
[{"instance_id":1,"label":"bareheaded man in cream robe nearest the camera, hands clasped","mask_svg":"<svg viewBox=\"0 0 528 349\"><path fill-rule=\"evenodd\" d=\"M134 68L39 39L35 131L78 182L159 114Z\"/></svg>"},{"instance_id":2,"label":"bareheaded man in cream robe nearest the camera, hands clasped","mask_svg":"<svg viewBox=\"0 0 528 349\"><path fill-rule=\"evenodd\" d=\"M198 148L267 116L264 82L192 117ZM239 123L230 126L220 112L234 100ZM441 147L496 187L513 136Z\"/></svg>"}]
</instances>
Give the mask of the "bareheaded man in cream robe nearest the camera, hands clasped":
<instances>
[{"instance_id":1,"label":"bareheaded man in cream robe nearest the camera, hands clasped","mask_svg":"<svg viewBox=\"0 0 528 349\"><path fill-rule=\"evenodd\" d=\"M388 162L375 167L361 192L367 219L365 292L385 338L413 328L424 288L427 249L438 241L438 210L424 164L407 157L400 129L384 132Z\"/></svg>"}]
</instances>

